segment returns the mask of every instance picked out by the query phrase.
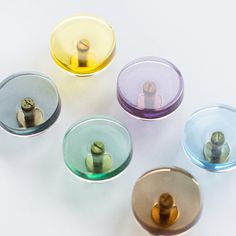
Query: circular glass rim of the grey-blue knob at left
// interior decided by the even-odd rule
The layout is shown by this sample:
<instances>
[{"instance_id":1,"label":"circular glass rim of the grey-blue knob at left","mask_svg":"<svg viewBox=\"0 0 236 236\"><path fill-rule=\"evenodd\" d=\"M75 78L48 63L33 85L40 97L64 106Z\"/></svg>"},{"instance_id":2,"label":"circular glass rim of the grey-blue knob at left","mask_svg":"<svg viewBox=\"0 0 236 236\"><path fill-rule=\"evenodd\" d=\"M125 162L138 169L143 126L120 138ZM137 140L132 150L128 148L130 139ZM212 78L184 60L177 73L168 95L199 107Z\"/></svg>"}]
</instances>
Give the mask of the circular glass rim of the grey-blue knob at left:
<instances>
[{"instance_id":1,"label":"circular glass rim of the grey-blue knob at left","mask_svg":"<svg viewBox=\"0 0 236 236\"><path fill-rule=\"evenodd\" d=\"M54 84L54 82L50 79L50 77L44 75L43 73L40 72L36 72L36 71L23 71L23 72L18 72L18 73L14 73L10 76L8 76L7 78L5 78L4 80L1 81L0 83L0 92L1 89L9 82L14 80L17 77L20 76L28 76L28 75L35 75L37 77L41 77L42 79L44 79L45 81L47 81L55 90L55 94L57 95L57 107L55 108L55 111L53 112L53 114L51 115L50 118L48 118L45 122L43 122L42 124L36 126L36 127L32 127L32 128L26 128L26 129L22 129L22 128L11 128L8 125L4 124L2 121L0 121L0 127L6 131L7 133L10 133L12 135L15 136L34 136L37 134L40 134L42 132L44 132L45 130L47 130L49 127L51 127L57 120L57 118L60 115L61 112L61 98L58 92L58 89L56 87L56 85Z\"/></svg>"}]
</instances>

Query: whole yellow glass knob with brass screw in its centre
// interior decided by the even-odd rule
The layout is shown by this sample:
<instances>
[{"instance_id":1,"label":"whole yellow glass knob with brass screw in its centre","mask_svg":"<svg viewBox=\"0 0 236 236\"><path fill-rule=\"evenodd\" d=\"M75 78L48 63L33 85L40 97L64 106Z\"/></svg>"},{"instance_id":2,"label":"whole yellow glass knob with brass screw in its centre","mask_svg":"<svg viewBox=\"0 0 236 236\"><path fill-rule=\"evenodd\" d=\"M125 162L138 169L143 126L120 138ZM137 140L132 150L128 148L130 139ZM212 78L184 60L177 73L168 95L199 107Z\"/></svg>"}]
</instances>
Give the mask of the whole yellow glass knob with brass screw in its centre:
<instances>
[{"instance_id":1,"label":"whole yellow glass knob with brass screw in its centre","mask_svg":"<svg viewBox=\"0 0 236 236\"><path fill-rule=\"evenodd\" d=\"M51 55L61 68L78 76L105 68L115 54L115 34L105 21L78 15L61 22L51 35Z\"/></svg>"}]
</instances>

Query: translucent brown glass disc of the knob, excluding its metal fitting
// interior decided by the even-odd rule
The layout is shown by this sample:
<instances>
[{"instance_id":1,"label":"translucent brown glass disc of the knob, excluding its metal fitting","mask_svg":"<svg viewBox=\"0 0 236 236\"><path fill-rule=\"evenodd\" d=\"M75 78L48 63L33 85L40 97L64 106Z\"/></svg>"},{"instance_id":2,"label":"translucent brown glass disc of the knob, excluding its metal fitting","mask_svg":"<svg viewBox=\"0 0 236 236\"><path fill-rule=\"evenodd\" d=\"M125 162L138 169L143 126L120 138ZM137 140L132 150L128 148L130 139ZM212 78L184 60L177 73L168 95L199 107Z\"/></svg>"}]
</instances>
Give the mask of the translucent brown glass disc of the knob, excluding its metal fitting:
<instances>
[{"instance_id":1,"label":"translucent brown glass disc of the knob, excluding its metal fitting","mask_svg":"<svg viewBox=\"0 0 236 236\"><path fill-rule=\"evenodd\" d=\"M156 224L151 211L163 193L171 194L179 218L170 226ZM132 209L140 225L153 235L175 235L192 227L201 209L199 184L192 175L179 168L160 168L147 172L136 182L132 194Z\"/></svg>"}]
</instances>

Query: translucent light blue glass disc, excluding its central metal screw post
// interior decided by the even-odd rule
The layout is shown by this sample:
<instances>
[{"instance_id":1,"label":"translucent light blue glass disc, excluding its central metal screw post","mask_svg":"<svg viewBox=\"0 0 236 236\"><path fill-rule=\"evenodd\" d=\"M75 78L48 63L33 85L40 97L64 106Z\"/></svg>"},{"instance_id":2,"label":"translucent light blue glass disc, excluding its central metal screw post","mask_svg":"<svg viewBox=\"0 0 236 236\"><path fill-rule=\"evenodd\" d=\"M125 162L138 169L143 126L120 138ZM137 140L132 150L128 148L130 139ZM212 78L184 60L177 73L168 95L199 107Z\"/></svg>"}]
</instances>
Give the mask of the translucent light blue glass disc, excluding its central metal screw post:
<instances>
[{"instance_id":1,"label":"translucent light blue glass disc, excluding its central metal screw post","mask_svg":"<svg viewBox=\"0 0 236 236\"><path fill-rule=\"evenodd\" d=\"M188 157L196 165L209 171L223 171L236 165L236 110L226 105L203 108L191 115L186 122L183 147ZM222 132L225 142L221 147L224 161L211 162L204 155L211 144L214 132ZM228 156L227 156L228 155Z\"/></svg>"}]
</instances>

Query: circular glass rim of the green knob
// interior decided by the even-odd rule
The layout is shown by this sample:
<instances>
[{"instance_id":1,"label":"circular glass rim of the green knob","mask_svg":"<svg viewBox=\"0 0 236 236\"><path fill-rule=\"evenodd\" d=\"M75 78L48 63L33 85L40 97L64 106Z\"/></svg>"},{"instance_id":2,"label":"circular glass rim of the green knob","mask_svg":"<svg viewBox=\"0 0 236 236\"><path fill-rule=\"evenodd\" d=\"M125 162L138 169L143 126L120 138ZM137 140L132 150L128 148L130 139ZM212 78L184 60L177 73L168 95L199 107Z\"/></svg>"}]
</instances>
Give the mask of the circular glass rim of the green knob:
<instances>
[{"instance_id":1,"label":"circular glass rim of the green knob","mask_svg":"<svg viewBox=\"0 0 236 236\"><path fill-rule=\"evenodd\" d=\"M123 161L123 163L118 166L117 168L115 168L114 170L108 172L108 173L84 173L81 171L78 171L77 169L75 169L73 166L69 165L66 161L66 150L65 150L65 145L67 142L67 137L69 135L69 133L77 128L78 126L90 122L90 121L95 121L95 120L105 120L108 122L112 122L113 124L115 124L116 126L119 126L120 128L122 128L125 133L127 134L127 138L130 144L130 153L129 156L125 159L125 161ZM66 164L66 166L68 167L68 169L77 177L79 177L82 180L85 181L89 181L89 182L104 182L106 180L109 179L113 179L114 177L118 176L119 174L121 174L130 164L131 160L132 160L132 155L133 155L133 143L132 143L132 139L130 136L130 133L128 131L128 129L119 121L117 121L116 119L113 119L109 116L89 116L87 118L84 118L80 121L77 121L76 123L74 123L73 125L70 126L70 128L66 131L65 135L64 135L64 139L63 139L63 156L64 156L64 162Z\"/></svg>"}]
</instances>

